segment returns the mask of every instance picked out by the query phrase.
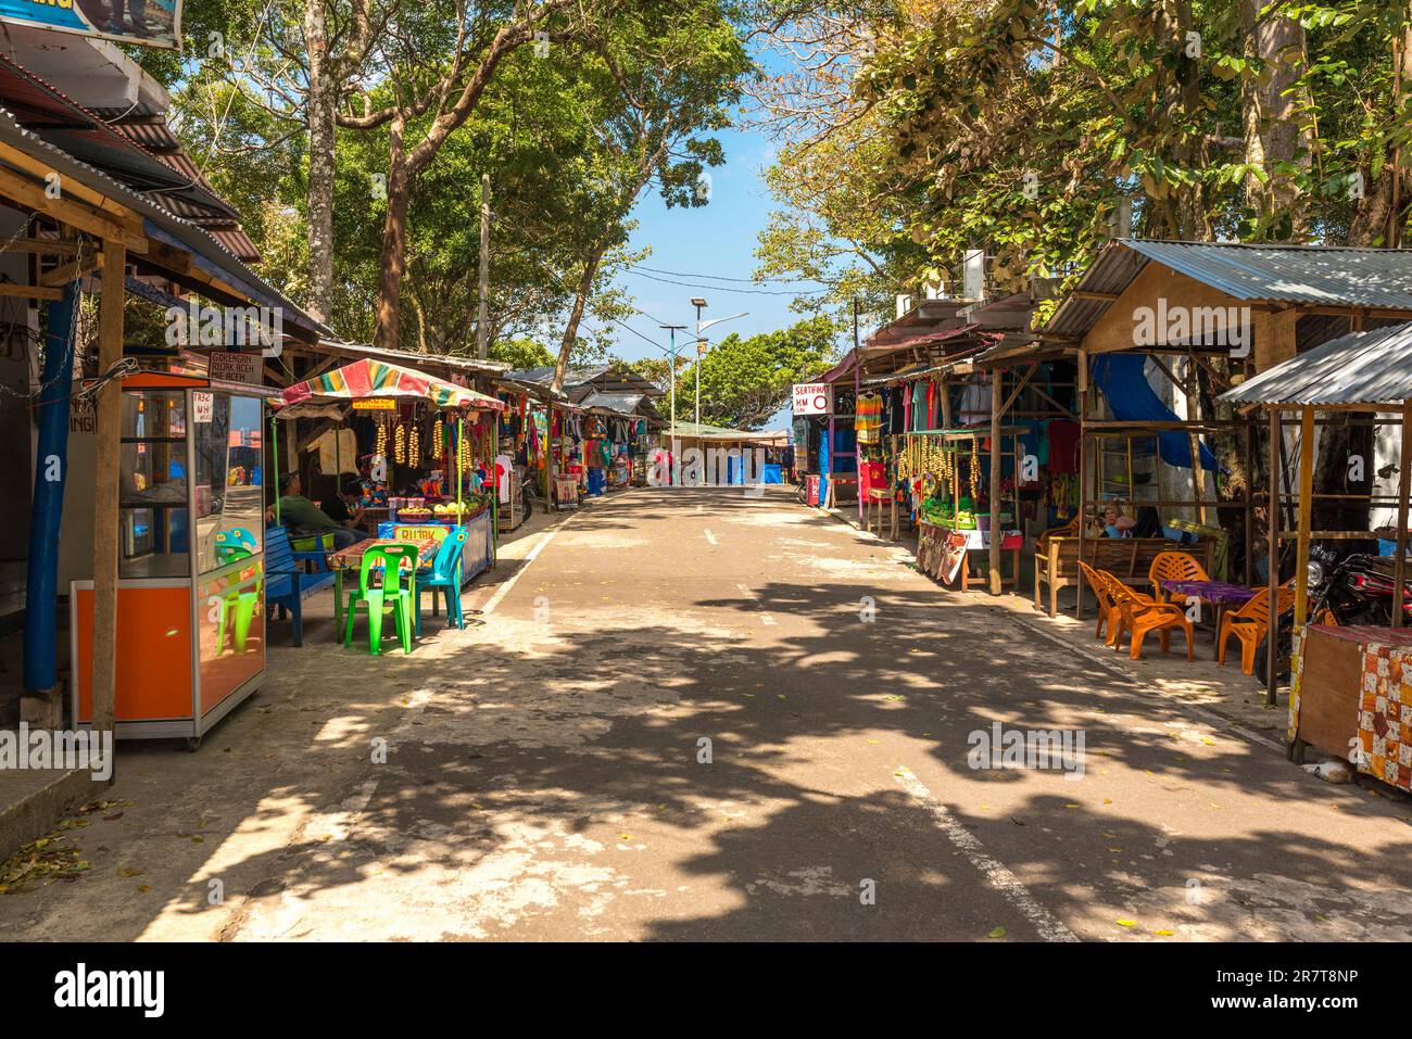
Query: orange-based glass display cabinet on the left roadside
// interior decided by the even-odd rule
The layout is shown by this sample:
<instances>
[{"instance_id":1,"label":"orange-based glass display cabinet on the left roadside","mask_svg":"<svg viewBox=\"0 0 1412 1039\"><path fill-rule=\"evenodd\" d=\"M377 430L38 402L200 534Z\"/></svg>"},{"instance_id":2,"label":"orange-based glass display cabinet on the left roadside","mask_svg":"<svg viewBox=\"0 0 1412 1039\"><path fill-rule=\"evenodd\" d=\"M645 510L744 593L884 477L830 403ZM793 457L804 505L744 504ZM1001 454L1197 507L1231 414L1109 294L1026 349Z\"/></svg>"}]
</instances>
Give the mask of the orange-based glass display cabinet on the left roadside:
<instances>
[{"instance_id":1,"label":"orange-based glass display cabinet on the left roadside","mask_svg":"<svg viewBox=\"0 0 1412 1039\"><path fill-rule=\"evenodd\" d=\"M123 381L117 738L201 737L260 687L264 452L260 387L143 373ZM92 719L93 582L71 586L73 717Z\"/></svg>"}]
</instances>

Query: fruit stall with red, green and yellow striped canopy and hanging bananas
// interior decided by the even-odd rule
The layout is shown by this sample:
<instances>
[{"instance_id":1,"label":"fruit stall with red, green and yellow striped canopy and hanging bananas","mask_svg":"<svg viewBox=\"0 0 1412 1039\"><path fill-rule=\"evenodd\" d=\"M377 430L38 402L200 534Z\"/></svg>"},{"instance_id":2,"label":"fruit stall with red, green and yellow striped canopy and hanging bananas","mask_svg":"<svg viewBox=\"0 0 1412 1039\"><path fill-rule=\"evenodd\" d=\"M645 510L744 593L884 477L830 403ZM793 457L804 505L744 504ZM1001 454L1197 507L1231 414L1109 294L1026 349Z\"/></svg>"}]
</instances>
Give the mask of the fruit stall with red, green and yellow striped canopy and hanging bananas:
<instances>
[{"instance_id":1,"label":"fruit stall with red, green and yellow striped canopy and hanging bananas","mask_svg":"<svg viewBox=\"0 0 1412 1039\"><path fill-rule=\"evenodd\" d=\"M275 416L309 404L349 405L356 469L369 531L393 538L400 527L466 527L462 580L494 565L494 415L503 401L414 368L359 360L284 390ZM335 462L345 470L342 440ZM278 504L277 504L278 518ZM435 536L435 535L433 535Z\"/></svg>"}]
</instances>

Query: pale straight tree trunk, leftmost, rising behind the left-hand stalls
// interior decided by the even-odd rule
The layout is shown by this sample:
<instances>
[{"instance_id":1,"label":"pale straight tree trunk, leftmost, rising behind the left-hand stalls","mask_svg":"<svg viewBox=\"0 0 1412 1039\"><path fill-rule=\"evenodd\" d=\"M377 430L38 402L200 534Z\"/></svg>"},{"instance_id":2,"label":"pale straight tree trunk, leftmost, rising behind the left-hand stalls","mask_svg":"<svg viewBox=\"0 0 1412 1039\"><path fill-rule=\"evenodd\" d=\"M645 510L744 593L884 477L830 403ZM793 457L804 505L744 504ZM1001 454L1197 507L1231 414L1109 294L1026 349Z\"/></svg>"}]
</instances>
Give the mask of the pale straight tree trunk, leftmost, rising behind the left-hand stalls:
<instances>
[{"instance_id":1,"label":"pale straight tree trunk, leftmost, rising behind the left-hand stalls","mask_svg":"<svg viewBox=\"0 0 1412 1039\"><path fill-rule=\"evenodd\" d=\"M330 75L325 0L306 0L304 38L309 48L309 315L326 322L333 311L335 119L339 85Z\"/></svg>"}]
</instances>

